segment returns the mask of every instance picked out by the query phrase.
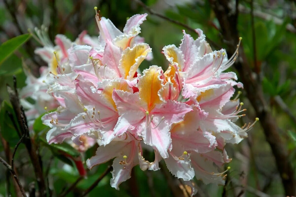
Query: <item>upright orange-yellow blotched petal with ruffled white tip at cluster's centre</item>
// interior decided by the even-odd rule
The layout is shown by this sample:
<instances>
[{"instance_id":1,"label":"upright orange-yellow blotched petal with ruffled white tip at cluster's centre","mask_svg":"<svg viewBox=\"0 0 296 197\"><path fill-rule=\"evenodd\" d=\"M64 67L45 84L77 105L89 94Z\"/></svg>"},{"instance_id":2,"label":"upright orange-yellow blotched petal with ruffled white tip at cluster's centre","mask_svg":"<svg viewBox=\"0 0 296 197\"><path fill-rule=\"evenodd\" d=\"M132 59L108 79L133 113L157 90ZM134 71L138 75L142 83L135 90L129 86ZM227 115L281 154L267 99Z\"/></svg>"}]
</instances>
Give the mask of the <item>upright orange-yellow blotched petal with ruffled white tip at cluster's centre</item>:
<instances>
[{"instance_id":1,"label":"upright orange-yellow blotched petal with ruffled white tip at cluster's centre","mask_svg":"<svg viewBox=\"0 0 296 197\"><path fill-rule=\"evenodd\" d=\"M162 69L158 66L150 66L144 70L143 76L139 78L139 96L147 103L147 110L150 112L156 104L161 103L157 92L162 88L163 80L160 79Z\"/></svg>"}]
</instances>

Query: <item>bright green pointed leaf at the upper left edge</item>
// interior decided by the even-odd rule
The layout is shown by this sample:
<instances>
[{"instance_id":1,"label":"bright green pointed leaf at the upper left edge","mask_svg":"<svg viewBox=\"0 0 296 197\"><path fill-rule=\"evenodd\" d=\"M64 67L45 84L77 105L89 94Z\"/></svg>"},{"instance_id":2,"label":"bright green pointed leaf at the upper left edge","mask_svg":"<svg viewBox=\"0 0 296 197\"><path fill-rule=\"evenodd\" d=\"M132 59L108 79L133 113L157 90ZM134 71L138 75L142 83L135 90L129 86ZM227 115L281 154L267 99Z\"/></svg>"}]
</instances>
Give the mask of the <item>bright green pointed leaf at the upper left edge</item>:
<instances>
[{"instance_id":1,"label":"bright green pointed leaf at the upper left edge","mask_svg":"<svg viewBox=\"0 0 296 197\"><path fill-rule=\"evenodd\" d=\"M15 50L29 40L31 34L19 35L15 38L7 40L0 46L0 65L6 60Z\"/></svg>"}]
</instances>

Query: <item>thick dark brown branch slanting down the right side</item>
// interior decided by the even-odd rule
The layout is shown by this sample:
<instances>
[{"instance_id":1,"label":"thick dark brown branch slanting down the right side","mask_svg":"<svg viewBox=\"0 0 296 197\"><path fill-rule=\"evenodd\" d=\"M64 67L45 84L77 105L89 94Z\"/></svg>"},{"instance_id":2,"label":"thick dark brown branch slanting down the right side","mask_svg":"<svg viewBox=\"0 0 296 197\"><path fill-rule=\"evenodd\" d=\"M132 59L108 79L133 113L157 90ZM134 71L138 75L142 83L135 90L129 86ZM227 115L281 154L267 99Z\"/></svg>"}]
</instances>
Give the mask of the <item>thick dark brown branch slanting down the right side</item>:
<instances>
[{"instance_id":1,"label":"thick dark brown branch slanting down the right side","mask_svg":"<svg viewBox=\"0 0 296 197\"><path fill-rule=\"evenodd\" d=\"M234 53L237 48L237 41L239 40L237 17L231 14L232 10L229 7L229 2L227 0L210 0L210 3L220 23L223 36L228 41L226 43L228 45L228 51ZM270 112L270 106L264 99L260 82L252 77L252 70L247 63L247 58L242 47L239 49L239 54L241 58L235 63L235 68L239 72L240 79L244 83L244 89L256 112L256 116L260 118L260 123L266 136L266 140L271 147L277 169L281 175L285 194L286 196L295 196L296 181L294 170L289 161L287 149L279 135L280 129Z\"/></svg>"}]
</instances>

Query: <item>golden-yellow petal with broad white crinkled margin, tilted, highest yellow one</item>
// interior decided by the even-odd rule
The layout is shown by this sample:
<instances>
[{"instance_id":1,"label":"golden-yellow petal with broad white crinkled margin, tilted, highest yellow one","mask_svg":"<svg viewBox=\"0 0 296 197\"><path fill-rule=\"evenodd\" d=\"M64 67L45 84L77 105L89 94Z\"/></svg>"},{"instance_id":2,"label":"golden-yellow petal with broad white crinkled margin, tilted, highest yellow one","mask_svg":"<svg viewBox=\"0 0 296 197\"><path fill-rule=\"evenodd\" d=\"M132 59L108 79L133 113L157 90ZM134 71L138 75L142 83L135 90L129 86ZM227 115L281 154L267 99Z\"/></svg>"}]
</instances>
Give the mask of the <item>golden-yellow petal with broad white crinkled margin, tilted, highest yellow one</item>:
<instances>
[{"instance_id":1,"label":"golden-yellow petal with broad white crinkled margin, tilted, highest yellow one","mask_svg":"<svg viewBox=\"0 0 296 197\"><path fill-rule=\"evenodd\" d=\"M151 48L146 43L140 43L133 48L126 48L122 52L122 58L119 61L119 69L124 79L132 79L139 65L151 52Z\"/></svg>"}]
</instances>

